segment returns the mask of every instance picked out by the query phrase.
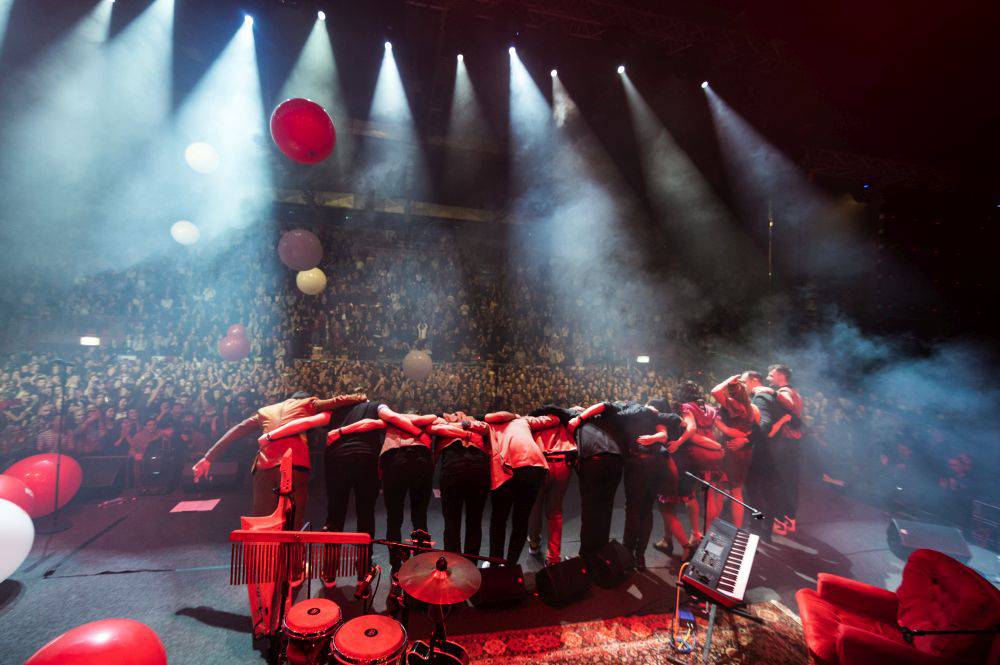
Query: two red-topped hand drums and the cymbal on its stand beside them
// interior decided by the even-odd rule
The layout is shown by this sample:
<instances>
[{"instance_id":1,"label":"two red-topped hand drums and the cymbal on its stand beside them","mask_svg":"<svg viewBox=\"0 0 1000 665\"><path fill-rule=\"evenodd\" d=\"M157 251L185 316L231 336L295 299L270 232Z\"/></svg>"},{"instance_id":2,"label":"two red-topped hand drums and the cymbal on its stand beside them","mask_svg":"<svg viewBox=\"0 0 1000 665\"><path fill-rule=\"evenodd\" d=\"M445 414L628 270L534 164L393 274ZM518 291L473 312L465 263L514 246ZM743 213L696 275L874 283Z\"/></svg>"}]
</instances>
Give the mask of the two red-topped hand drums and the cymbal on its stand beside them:
<instances>
[{"instance_id":1,"label":"two red-topped hand drums and the cymbal on its stand beside them","mask_svg":"<svg viewBox=\"0 0 1000 665\"><path fill-rule=\"evenodd\" d=\"M340 607L325 598L296 603L285 615L285 662L290 665L467 665L469 658L445 633L448 609L479 590L475 564L451 552L432 551L407 560L398 573L403 591L427 605L434 622L429 641L409 644L396 619L366 614L342 621Z\"/></svg>"}]
</instances>

